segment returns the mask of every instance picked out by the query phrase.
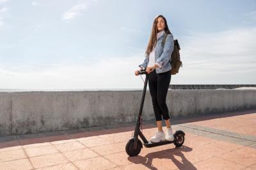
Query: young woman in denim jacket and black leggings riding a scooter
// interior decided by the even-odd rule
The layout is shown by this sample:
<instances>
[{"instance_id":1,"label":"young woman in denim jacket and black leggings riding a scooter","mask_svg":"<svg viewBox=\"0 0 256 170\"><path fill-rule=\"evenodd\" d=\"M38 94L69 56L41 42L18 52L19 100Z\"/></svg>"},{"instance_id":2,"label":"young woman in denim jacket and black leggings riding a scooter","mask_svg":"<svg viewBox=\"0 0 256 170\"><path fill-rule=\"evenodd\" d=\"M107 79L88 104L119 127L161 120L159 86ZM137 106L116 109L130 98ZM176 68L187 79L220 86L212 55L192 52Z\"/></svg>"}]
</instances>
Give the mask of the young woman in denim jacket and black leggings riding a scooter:
<instances>
[{"instance_id":1,"label":"young woman in denim jacket and black leggings riding a scooter","mask_svg":"<svg viewBox=\"0 0 256 170\"><path fill-rule=\"evenodd\" d=\"M162 45L164 35L167 35L164 47ZM168 107L166 105L166 95L171 80L170 64L171 54L173 52L173 36L170 32L166 19L163 15L158 15L154 19L150 40L145 52L144 62L139 65L141 69L146 69L148 73L148 86L152 98L154 114L156 116L156 124L158 131L151 137L152 143L159 141L173 141L172 127L170 125L170 117ZM135 75L138 74L135 71ZM166 123L166 135L163 132L162 118Z\"/></svg>"}]
</instances>

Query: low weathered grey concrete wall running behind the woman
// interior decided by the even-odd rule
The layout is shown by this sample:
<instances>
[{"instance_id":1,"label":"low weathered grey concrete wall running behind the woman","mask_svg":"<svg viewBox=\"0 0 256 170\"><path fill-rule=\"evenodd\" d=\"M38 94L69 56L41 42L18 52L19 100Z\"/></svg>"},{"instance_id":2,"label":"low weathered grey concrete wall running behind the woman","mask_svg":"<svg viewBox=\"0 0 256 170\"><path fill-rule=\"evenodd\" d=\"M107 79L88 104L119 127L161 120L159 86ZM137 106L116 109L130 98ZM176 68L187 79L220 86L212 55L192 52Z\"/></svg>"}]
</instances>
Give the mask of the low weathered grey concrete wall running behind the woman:
<instances>
[{"instance_id":1,"label":"low weathered grey concrete wall running behind the woman","mask_svg":"<svg viewBox=\"0 0 256 170\"><path fill-rule=\"evenodd\" d=\"M142 91L0 93L0 135L49 132L136 121ZM170 114L186 116L256 107L256 90L170 90ZM154 120L147 91L143 120Z\"/></svg>"}]
</instances>

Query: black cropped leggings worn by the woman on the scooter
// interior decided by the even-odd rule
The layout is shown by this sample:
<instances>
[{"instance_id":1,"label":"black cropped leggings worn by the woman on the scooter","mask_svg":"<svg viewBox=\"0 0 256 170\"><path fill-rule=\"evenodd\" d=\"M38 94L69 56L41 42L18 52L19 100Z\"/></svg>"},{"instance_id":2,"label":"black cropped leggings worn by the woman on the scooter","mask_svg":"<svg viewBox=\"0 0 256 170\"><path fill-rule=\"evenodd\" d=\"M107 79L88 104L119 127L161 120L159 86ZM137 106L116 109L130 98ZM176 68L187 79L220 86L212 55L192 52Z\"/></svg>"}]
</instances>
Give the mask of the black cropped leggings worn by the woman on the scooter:
<instances>
[{"instance_id":1,"label":"black cropped leggings worn by the woman on the scooter","mask_svg":"<svg viewBox=\"0 0 256 170\"><path fill-rule=\"evenodd\" d=\"M148 86L152 98L156 121L170 119L166 105L166 95L171 81L171 71L156 73L156 70L148 74Z\"/></svg>"}]
</instances>

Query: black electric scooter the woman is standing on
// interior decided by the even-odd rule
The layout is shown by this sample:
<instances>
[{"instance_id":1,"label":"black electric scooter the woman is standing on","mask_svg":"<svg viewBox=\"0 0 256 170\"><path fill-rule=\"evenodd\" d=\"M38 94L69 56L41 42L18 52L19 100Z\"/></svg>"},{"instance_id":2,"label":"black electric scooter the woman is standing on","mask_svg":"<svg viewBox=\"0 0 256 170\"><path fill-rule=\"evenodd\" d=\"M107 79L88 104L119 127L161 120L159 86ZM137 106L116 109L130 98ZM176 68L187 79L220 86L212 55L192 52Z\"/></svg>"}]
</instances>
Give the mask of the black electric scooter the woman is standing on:
<instances>
[{"instance_id":1,"label":"black electric scooter the woman is standing on","mask_svg":"<svg viewBox=\"0 0 256 170\"><path fill-rule=\"evenodd\" d=\"M141 98L138 120L136 122L136 127L135 127L135 130L134 130L133 137L132 137L132 139L130 139L128 141L128 143L125 146L126 153L130 157L137 156L140 153L141 148L143 148L143 145L146 148L152 148L152 147L155 147L155 146L161 146L161 145L170 144L170 143L175 144L175 146L177 146L177 147L182 146L182 144L184 143L184 140L185 140L185 137L184 137L185 133L182 132L182 130L177 130L175 132L175 134L173 134L173 137L174 137L173 141L166 141L165 140L165 141L160 141L159 143L148 142L146 137L142 134L142 132L140 130L140 126L141 126L141 121L142 121L141 120L141 118L142 118L142 109L143 109L143 104L144 104L146 89L147 89L147 84L148 84L148 73L146 72L146 70L140 70L139 74L140 75L145 74L146 78L145 78L145 82L144 82L144 88L143 88L143 93L142 93L142 98ZM141 143L140 139L138 139L139 136L142 139L143 144Z\"/></svg>"}]
</instances>

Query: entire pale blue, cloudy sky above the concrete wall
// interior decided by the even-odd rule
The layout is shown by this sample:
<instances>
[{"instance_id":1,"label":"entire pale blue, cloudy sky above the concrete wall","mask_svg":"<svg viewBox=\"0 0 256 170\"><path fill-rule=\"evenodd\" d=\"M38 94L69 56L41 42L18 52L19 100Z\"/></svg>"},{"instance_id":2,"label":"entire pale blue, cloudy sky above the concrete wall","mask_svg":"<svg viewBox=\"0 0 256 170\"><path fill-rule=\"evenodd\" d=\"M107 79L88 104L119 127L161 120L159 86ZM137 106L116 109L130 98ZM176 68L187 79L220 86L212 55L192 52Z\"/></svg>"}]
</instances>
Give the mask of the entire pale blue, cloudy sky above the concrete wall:
<instances>
[{"instance_id":1,"label":"entire pale blue, cloudy sky above the concrete wall","mask_svg":"<svg viewBox=\"0 0 256 170\"><path fill-rule=\"evenodd\" d=\"M182 48L172 84L256 83L256 1L0 0L0 89L142 88L159 14Z\"/></svg>"}]
</instances>

